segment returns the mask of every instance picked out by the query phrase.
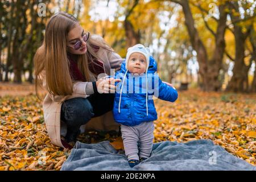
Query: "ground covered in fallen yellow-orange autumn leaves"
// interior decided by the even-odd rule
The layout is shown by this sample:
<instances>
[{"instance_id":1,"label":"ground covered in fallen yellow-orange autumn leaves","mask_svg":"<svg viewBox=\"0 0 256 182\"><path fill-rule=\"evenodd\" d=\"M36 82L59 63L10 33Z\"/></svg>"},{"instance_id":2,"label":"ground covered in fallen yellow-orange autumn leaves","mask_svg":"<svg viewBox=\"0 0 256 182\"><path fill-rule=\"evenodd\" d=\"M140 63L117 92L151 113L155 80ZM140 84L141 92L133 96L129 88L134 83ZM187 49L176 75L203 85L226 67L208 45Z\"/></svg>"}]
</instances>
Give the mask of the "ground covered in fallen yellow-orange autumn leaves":
<instances>
[{"instance_id":1,"label":"ground covered in fallen yellow-orange autumn leaves","mask_svg":"<svg viewBox=\"0 0 256 182\"><path fill-rule=\"evenodd\" d=\"M256 94L179 92L175 103L155 100L154 142L211 139L231 154L256 165ZM51 144L35 94L0 96L0 170L59 170L70 150ZM90 132L79 140L110 140L115 133Z\"/></svg>"}]
</instances>

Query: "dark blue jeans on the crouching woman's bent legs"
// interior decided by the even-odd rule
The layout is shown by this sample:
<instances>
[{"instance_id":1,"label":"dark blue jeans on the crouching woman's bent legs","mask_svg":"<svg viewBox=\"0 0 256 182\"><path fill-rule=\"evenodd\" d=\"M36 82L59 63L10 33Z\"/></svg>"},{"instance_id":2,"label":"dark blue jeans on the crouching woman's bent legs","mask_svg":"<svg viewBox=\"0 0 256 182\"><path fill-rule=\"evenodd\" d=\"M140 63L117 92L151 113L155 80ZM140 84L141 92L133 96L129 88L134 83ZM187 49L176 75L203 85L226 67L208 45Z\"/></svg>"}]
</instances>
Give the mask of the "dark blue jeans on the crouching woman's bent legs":
<instances>
[{"instance_id":1,"label":"dark blue jeans on the crouching woman's bent legs","mask_svg":"<svg viewBox=\"0 0 256 182\"><path fill-rule=\"evenodd\" d=\"M66 142L75 142L80 126L91 118L113 109L114 93L92 94L87 98L72 98L61 105L60 119L67 124Z\"/></svg>"}]
</instances>

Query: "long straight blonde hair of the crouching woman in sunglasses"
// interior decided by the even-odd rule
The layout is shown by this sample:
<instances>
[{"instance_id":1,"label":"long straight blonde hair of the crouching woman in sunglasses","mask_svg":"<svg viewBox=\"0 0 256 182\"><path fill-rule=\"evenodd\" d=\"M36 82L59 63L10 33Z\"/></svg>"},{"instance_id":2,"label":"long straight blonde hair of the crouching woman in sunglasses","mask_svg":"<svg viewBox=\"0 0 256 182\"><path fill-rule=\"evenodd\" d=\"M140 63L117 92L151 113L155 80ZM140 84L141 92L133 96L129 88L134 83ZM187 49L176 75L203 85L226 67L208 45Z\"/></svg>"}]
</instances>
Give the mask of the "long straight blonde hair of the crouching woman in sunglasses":
<instances>
[{"instance_id":1,"label":"long straight blonde hair of the crouching woman in sunglasses","mask_svg":"<svg viewBox=\"0 0 256 182\"><path fill-rule=\"evenodd\" d=\"M59 96L67 96L73 93L74 81L72 81L69 72L67 37L68 32L77 25L79 25L77 19L65 12L59 12L49 19L43 44L38 48L34 56L36 96L39 99L38 86L43 84L42 77L40 77L42 71L46 73L48 93ZM87 51L84 55L78 55L77 63L86 81L90 81L93 75L89 71L88 62L93 61L95 58L99 59L92 46L113 51L101 36L90 36L87 42Z\"/></svg>"}]
</instances>

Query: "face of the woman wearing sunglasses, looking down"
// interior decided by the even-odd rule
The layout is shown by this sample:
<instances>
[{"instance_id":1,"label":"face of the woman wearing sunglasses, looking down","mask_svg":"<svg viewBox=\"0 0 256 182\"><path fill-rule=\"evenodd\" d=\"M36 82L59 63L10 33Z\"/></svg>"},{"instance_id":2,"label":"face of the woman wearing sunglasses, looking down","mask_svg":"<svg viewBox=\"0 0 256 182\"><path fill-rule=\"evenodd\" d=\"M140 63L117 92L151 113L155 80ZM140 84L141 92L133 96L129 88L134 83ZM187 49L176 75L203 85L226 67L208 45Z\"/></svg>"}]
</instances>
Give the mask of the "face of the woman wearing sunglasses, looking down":
<instances>
[{"instance_id":1,"label":"face of the woman wearing sunglasses, looking down","mask_svg":"<svg viewBox=\"0 0 256 182\"><path fill-rule=\"evenodd\" d=\"M73 53L75 55L83 55L84 53L86 53L87 51L86 42L82 40L85 33L86 32L80 25L77 25L75 28L73 28L71 31L68 32L68 42L67 42L68 52ZM79 41L81 41L82 44L81 44L81 47L76 50L73 47Z\"/></svg>"}]
</instances>

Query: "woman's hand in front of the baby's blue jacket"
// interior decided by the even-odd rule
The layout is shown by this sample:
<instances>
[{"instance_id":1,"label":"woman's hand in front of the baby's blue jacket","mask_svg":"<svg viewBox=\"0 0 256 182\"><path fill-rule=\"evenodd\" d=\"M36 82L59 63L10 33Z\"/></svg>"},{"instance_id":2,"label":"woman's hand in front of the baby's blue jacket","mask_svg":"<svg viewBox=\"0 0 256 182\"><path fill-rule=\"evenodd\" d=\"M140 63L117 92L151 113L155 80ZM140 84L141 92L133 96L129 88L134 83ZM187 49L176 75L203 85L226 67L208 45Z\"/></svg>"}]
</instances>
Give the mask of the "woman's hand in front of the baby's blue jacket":
<instances>
[{"instance_id":1,"label":"woman's hand in front of the baby's blue jacket","mask_svg":"<svg viewBox=\"0 0 256 182\"><path fill-rule=\"evenodd\" d=\"M115 93L115 82L121 81L112 77L102 77L96 81L98 93Z\"/></svg>"}]
</instances>

